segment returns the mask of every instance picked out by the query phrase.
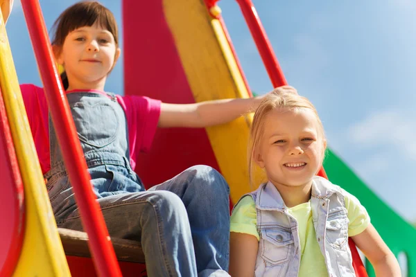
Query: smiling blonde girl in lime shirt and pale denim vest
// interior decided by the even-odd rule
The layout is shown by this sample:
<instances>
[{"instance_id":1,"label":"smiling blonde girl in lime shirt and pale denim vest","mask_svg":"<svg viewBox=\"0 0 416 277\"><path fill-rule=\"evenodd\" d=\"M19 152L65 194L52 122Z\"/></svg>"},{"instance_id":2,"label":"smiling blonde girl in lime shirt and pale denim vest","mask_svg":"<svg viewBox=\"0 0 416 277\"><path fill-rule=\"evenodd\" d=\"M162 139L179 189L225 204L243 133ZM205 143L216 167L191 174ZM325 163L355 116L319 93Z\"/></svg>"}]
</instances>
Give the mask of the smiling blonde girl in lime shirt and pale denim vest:
<instances>
[{"instance_id":1,"label":"smiling blonde girl in lime shirt and pale denim vest","mask_svg":"<svg viewBox=\"0 0 416 277\"><path fill-rule=\"evenodd\" d=\"M401 276L358 199L315 176L327 142L308 99L294 89L268 94L254 115L251 140L250 171L262 168L267 181L232 212L231 276L355 276L348 237L376 276Z\"/></svg>"}]
</instances>

